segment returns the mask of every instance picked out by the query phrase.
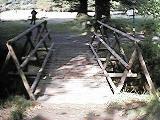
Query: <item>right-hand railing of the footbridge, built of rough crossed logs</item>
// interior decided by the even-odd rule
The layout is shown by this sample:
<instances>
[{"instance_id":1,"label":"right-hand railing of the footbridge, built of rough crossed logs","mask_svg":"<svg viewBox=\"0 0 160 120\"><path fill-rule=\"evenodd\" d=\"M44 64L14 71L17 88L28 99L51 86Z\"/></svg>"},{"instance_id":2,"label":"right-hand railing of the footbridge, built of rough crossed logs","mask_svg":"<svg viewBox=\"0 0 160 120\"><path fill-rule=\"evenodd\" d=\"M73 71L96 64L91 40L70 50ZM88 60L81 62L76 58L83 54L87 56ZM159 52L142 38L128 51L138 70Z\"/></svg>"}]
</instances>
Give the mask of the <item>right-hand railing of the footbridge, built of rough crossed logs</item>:
<instances>
[{"instance_id":1,"label":"right-hand railing of the footbridge, built of rough crossed logs","mask_svg":"<svg viewBox=\"0 0 160 120\"><path fill-rule=\"evenodd\" d=\"M149 75L149 72L147 70L147 67L146 67L145 61L143 59L140 47L137 44L137 43L140 42L140 40L137 39L137 38L134 38L131 35L128 35L127 33L122 32L122 31L120 31L120 30L118 30L118 29L116 29L114 27L111 27L111 26L109 26L109 25L107 25L107 24L105 24L105 23L103 23L101 21L97 21L97 22L100 24L100 27L99 27L100 35L98 35L98 33L93 32L94 35L93 35L91 43L90 43L90 48L91 48L92 52L94 53L94 55L95 55L95 57L97 59L97 62L100 65L100 67L102 68L102 71L103 71L104 75L106 76L108 83L112 87L111 89L114 90L113 93L119 93L121 91L121 89L123 88L123 86L124 86L124 82L125 82L126 78L132 76L132 75L129 76L128 74L129 73L132 74L131 68L134 65L133 62L135 61L135 58L137 57L139 59L140 65L142 67L142 71L143 71L143 73L144 73L144 75L146 77L146 80L147 80L148 84L149 84L149 87L150 87L149 91L150 91L151 94L156 95L156 90L155 90L154 84L153 84L153 82L151 80L151 77ZM115 35L115 39L116 39L115 40L115 44L118 44L120 52L121 52L121 49L123 49L123 48L120 46L120 43L119 43L120 41L118 40L118 37L116 36L117 34L119 36L124 36L124 37L128 38L130 41L132 41L132 43L134 44L134 51L133 51L133 53L131 55L131 58L130 58L129 62L127 62L127 58L126 58L125 54L123 54L123 55L125 55L124 59L126 59L126 60L123 60L123 58L120 57L120 54L122 54L122 53L116 53L115 50L114 50L115 46L108 45L106 43L106 39L107 38L105 38L103 27L113 31L113 33ZM92 45L95 40L98 40L98 44L96 46L97 50L95 50L95 48L94 48L95 45ZM108 73L106 71L106 67L107 67L106 63L103 65L101 59L98 56L98 53L96 53L96 52L99 51L99 49L101 49L100 48L101 44L103 45L103 47L107 48L107 51L109 51L117 59L117 61L119 61L125 67L123 73L117 73L117 74L114 73L115 74L114 75L114 74L112 74L112 73L110 74L110 73ZM104 50L104 52L106 52L106 50ZM135 75L136 74L134 74L133 76L135 76ZM121 78L121 81L118 84L118 87L116 87L114 85L111 77L120 77Z\"/></svg>"}]
</instances>

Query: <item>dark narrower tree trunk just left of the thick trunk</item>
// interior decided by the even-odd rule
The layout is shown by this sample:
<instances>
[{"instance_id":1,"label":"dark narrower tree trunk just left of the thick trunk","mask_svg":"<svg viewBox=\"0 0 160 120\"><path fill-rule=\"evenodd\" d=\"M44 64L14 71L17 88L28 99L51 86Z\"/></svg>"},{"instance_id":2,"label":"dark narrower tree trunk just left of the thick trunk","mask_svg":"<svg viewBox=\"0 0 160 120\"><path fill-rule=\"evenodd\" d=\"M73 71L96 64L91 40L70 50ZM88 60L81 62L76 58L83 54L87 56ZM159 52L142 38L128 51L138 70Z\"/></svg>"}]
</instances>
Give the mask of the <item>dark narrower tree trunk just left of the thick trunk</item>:
<instances>
[{"instance_id":1,"label":"dark narrower tree trunk just left of the thick trunk","mask_svg":"<svg viewBox=\"0 0 160 120\"><path fill-rule=\"evenodd\" d=\"M79 0L79 2L80 2L80 6L79 6L78 14L80 13L87 14L88 0Z\"/></svg>"}]
</instances>

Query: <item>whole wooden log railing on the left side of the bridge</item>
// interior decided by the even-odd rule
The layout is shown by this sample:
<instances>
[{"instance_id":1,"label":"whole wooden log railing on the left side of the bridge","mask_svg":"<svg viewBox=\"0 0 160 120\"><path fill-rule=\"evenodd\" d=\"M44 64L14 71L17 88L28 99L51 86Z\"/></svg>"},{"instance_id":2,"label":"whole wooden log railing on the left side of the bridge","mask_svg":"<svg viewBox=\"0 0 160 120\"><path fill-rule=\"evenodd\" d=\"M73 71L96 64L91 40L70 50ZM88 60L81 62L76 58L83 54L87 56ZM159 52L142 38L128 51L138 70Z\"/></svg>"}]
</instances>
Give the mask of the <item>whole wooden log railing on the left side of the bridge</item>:
<instances>
[{"instance_id":1,"label":"whole wooden log railing on the left side of the bridge","mask_svg":"<svg viewBox=\"0 0 160 120\"><path fill-rule=\"evenodd\" d=\"M47 40L48 43L47 44ZM24 84L24 87L32 100L35 100L34 91L39 83L44 67L48 58L52 53L54 43L51 43L50 32L47 29L47 21L43 21L37 25L32 26L18 36L7 41L8 54L1 69L1 74L5 71L10 59L13 59L17 68L18 74ZM17 51L15 46L21 46L21 51ZM48 46L50 45L50 48ZM43 49L44 48L44 49ZM24 72L27 66L34 60L36 63L41 63L39 55L41 50L46 51L46 57L43 59L41 68L39 69L32 85L29 85L26 74ZM36 59L33 59L36 58Z\"/></svg>"}]
</instances>

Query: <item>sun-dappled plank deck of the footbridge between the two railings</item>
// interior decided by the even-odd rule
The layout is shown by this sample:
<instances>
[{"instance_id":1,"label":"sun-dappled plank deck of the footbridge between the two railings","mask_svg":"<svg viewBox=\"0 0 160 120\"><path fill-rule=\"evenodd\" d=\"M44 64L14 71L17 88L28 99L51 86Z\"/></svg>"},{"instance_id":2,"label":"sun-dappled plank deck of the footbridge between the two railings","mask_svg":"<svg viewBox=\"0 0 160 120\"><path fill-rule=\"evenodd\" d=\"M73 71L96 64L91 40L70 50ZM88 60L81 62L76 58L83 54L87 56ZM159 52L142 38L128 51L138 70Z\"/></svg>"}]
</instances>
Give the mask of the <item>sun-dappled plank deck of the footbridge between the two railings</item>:
<instances>
[{"instance_id":1,"label":"sun-dappled plank deck of the footbridge between the two railings","mask_svg":"<svg viewBox=\"0 0 160 120\"><path fill-rule=\"evenodd\" d=\"M87 40L87 36L54 36L53 54L35 92L38 101L103 104L112 95Z\"/></svg>"}]
</instances>

